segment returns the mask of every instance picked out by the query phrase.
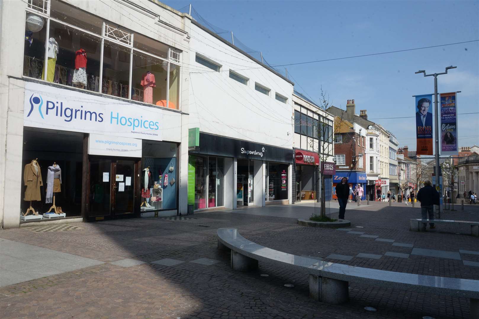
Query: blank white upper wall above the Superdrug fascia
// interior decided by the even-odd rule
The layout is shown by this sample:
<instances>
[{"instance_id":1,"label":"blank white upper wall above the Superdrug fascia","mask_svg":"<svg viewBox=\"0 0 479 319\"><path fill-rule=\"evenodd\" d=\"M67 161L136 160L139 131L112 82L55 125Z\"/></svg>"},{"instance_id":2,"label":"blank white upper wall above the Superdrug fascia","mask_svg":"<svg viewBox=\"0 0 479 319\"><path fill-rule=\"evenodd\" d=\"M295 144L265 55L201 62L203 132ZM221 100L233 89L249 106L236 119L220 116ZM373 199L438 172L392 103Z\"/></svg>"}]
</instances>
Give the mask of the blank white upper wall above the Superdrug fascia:
<instances>
[{"instance_id":1,"label":"blank white upper wall above the Superdrug fascia","mask_svg":"<svg viewBox=\"0 0 479 319\"><path fill-rule=\"evenodd\" d=\"M191 29L190 66L186 71L190 86L190 128L292 148L293 85L200 27L192 24ZM220 72L195 62L196 52L221 65ZM248 85L229 78L229 69L249 78ZM255 82L270 88L270 95L256 91ZM287 104L276 100L275 92L287 97Z\"/></svg>"}]
</instances>

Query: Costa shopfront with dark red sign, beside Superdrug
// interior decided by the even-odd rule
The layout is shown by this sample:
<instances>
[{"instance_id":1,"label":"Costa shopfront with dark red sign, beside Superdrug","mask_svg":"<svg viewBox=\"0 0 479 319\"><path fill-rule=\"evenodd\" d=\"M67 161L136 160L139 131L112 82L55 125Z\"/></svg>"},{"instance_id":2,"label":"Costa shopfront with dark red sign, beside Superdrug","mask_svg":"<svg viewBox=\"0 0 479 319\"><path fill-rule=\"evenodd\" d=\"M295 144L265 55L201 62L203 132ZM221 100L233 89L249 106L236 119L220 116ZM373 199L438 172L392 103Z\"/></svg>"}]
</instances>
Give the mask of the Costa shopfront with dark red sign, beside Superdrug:
<instances>
[{"instance_id":1,"label":"Costa shopfront with dark red sign, beside Superdrug","mask_svg":"<svg viewBox=\"0 0 479 319\"><path fill-rule=\"evenodd\" d=\"M295 149L296 202L314 201L319 190L319 156L317 153Z\"/></svg>"}]
</instances>

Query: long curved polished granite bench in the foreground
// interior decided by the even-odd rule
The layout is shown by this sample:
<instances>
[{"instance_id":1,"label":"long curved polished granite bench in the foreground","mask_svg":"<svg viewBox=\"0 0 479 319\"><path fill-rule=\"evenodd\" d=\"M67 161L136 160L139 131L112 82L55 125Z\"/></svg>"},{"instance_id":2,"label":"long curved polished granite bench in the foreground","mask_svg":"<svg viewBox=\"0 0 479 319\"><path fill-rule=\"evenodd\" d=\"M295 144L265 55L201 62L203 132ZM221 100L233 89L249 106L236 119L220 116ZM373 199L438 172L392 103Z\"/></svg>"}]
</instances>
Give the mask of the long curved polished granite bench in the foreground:
<instances>
[{"instance_id":1,"label":"long curved polished granite bench in the foreground","mask_svg":"<svg viewBox=\"0 0 479 319\"><path fill-rule=\"evenodd\" d=\"M283 253L251 242L235 228L217 230L218 249L231 250L231 268L250 271L258 262L274 263L309 275L309 297L331 304L346 302L349 283L397 288L435 295L470 299L472 319L479 319L479 280L414 275L387 270L335 264Z\"/></svg>"}]
</instances>

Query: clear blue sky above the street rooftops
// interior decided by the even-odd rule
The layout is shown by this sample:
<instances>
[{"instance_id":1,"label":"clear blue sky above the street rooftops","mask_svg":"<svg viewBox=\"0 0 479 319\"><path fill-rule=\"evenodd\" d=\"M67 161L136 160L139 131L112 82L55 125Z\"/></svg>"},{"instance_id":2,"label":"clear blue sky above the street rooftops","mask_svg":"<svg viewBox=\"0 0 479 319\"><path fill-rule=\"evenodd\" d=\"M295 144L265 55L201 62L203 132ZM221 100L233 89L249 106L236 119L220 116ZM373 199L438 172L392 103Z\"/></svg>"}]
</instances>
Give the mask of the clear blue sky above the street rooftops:
<instances>
[{"instance_id":1,"label":"clear blue sky above the street rooftops","mask_svg":"<svg viewBox=\"0 0 479 319\"><path fill-rule=\"evenodd\" d=\"M208 22L232 30L262 51L270 64L380 53L479 39L479 1L163 1L175 9L192 3ZM414 116L415 94L458 93L459 113L479 111L479 42L387 55L287 66L295 88L369 119ZM299 85L304 89L300 88ZM479 145L479 114L459 115L459 146ZM416 149L415 119L372 120L393 132L399 145Z\"/></svg>"}]
</instances>

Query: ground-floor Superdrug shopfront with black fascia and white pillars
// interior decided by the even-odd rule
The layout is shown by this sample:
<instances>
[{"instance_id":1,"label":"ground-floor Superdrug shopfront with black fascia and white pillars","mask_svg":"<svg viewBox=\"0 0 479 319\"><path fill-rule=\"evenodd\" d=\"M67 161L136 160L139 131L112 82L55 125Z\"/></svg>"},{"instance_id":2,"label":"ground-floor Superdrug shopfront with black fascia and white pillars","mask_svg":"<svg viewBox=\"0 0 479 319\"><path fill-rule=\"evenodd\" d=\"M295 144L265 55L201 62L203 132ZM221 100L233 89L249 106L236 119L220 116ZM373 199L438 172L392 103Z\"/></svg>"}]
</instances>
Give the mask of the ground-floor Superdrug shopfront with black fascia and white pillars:
<instances>
[{"instance_id":1,"label":"ground-floor Superdrug shopfront with black fascia and white pillars","mask_svg":"<svg viewBox=\"0 0 479 319\"><path fill-rule=\"evenodd\" d=\"M291 149L204 132L188 156L189 210L288 204Z\"/></svg>"}]
</instances>

